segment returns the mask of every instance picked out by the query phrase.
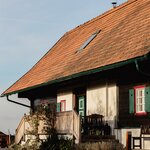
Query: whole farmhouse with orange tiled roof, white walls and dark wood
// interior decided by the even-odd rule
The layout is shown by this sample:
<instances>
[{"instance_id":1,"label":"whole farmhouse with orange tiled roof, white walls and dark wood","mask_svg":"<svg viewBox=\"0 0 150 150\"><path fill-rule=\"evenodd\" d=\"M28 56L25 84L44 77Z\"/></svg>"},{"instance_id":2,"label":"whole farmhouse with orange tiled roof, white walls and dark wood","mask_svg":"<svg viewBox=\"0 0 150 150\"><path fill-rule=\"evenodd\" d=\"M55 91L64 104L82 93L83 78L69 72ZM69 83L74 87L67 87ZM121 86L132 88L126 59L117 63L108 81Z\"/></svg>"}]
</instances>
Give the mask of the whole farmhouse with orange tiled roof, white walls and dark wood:
<instances>
[{"instance_id":1,"label":"whole farmhouse with orange tiled roof, white walls and dark wood","mask_svg":"<svg viewBox=\"0 0 150 150\"><path fill-rule=\"evenodd\" d=\"M65 33L2 96L28 98L33 111L56 104L58 132L78 142L96 116L125 145L127 131L139 136L150 122L149 10L149 0L128 0Z\"/></svg>"}]
</instances>

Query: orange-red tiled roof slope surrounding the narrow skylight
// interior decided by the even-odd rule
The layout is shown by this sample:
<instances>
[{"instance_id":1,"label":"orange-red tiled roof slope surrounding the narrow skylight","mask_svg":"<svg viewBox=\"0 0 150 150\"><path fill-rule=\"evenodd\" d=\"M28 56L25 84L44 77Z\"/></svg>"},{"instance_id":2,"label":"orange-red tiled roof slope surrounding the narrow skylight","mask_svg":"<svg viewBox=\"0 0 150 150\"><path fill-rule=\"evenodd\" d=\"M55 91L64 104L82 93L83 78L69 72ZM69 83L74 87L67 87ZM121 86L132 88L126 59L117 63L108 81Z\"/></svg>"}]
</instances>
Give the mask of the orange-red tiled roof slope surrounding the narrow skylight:
<instances>
[{"instance_id":1,"label":"orange-red tiled roof slope surrounding the narrow skylight","mask_svg":"<svg viewBox=\"0 0 150 150\"><path fill-rule=\"evenodd\" d=\"M78 52L96 31L101 32ZM122 62L150 51L150 0L130 0L76 27L3 95L62 77Z\"/></svg>"}]
</instances>

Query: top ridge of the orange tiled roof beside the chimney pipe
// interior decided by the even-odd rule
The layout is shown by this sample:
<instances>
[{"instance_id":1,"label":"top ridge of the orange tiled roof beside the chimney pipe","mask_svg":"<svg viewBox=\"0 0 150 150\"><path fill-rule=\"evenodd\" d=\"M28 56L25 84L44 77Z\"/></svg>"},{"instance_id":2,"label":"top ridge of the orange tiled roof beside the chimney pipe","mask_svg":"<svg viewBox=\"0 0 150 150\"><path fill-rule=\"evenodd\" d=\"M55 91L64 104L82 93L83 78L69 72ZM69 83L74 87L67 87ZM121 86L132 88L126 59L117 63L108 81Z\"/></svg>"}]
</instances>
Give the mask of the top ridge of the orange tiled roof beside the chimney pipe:
<instances>
[{"instance_id":1,"label":"top ridge of the orange tiled roof beside the chimney pipe","mask_svg":"<svg viewBox=\"0 0 150 150\"><path fill-rule=\"evenodd\" d=\"M124 2L124 3L122 3L122 4L120 4L120 5L117 6L116 8L112 8L112 9L110 9L110 10L108 10L108 11L105 11L104 13L100 14L99 16L96 16L96 17L94 17L94 18L92 18L92 19L90 19L90 20L88 20L88 21L86 21L86 22L84 22L84 23L82 23L82 24L76 26L76 27L73 28L72 30L67 31L66 34L70 34L70 33L72 33L72 32L75 32L79 27L81 27L81 26L83 26L83 25L89 25L89 24L91 24L91 23L97 21L98 19L104 18L104 17L108 16L109 14L112 14L112 13L114 13L114 12L116 12L116 11L118 11L118 10L120 10L120 9L122 9L122 8L124 8L124 7L126 7L126 6L128 6L128 5L130 5L130 4L132 4L132 3L134 3L134 2L136 2L136 1L138 1L138 0L128 0L128 1L126 1L126 2Z\"/></svg>"}]
</instances>

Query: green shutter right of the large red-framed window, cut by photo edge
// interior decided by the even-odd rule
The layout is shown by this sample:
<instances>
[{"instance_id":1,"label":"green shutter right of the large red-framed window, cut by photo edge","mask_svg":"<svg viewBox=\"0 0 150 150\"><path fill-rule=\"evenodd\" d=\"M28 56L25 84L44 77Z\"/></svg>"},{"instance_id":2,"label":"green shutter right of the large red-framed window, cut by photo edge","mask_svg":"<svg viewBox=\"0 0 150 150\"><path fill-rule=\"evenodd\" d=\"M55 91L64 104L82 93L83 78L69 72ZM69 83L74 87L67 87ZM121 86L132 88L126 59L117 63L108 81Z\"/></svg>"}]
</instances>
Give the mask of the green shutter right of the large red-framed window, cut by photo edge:
<instances>
[{"instance_id":1,"label":"green shutter right of the large red-framed window, cut by photo edge","mask_svg":"<svg viewBox=\"0 0 150 150\"><path fill-rule=\"evenodd\" d=\"M150 87L145 88L145 111L150 112Z\"/></svg>"}]
</instances>

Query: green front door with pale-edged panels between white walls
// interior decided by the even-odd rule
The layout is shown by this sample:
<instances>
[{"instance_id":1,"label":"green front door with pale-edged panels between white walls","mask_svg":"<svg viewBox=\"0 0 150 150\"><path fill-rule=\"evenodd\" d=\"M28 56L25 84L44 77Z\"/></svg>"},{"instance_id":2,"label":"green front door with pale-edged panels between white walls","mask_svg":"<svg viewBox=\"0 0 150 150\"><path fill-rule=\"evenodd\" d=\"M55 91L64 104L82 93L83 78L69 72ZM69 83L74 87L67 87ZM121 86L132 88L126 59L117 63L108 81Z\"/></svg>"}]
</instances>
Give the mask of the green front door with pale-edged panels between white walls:
<instances>
[{"instance_id":1,"label":"green front door with pale-edged panels between white walls","mask_svg":"<svg viewBox=\"0 0 150 150\"><path fill-rule=\"evenodd\" d=\"M85 96L77 96L78 102L78 113L80 116L85 116L86 114L86 105L85 105Z\"/></svg>"}]
</instances>

